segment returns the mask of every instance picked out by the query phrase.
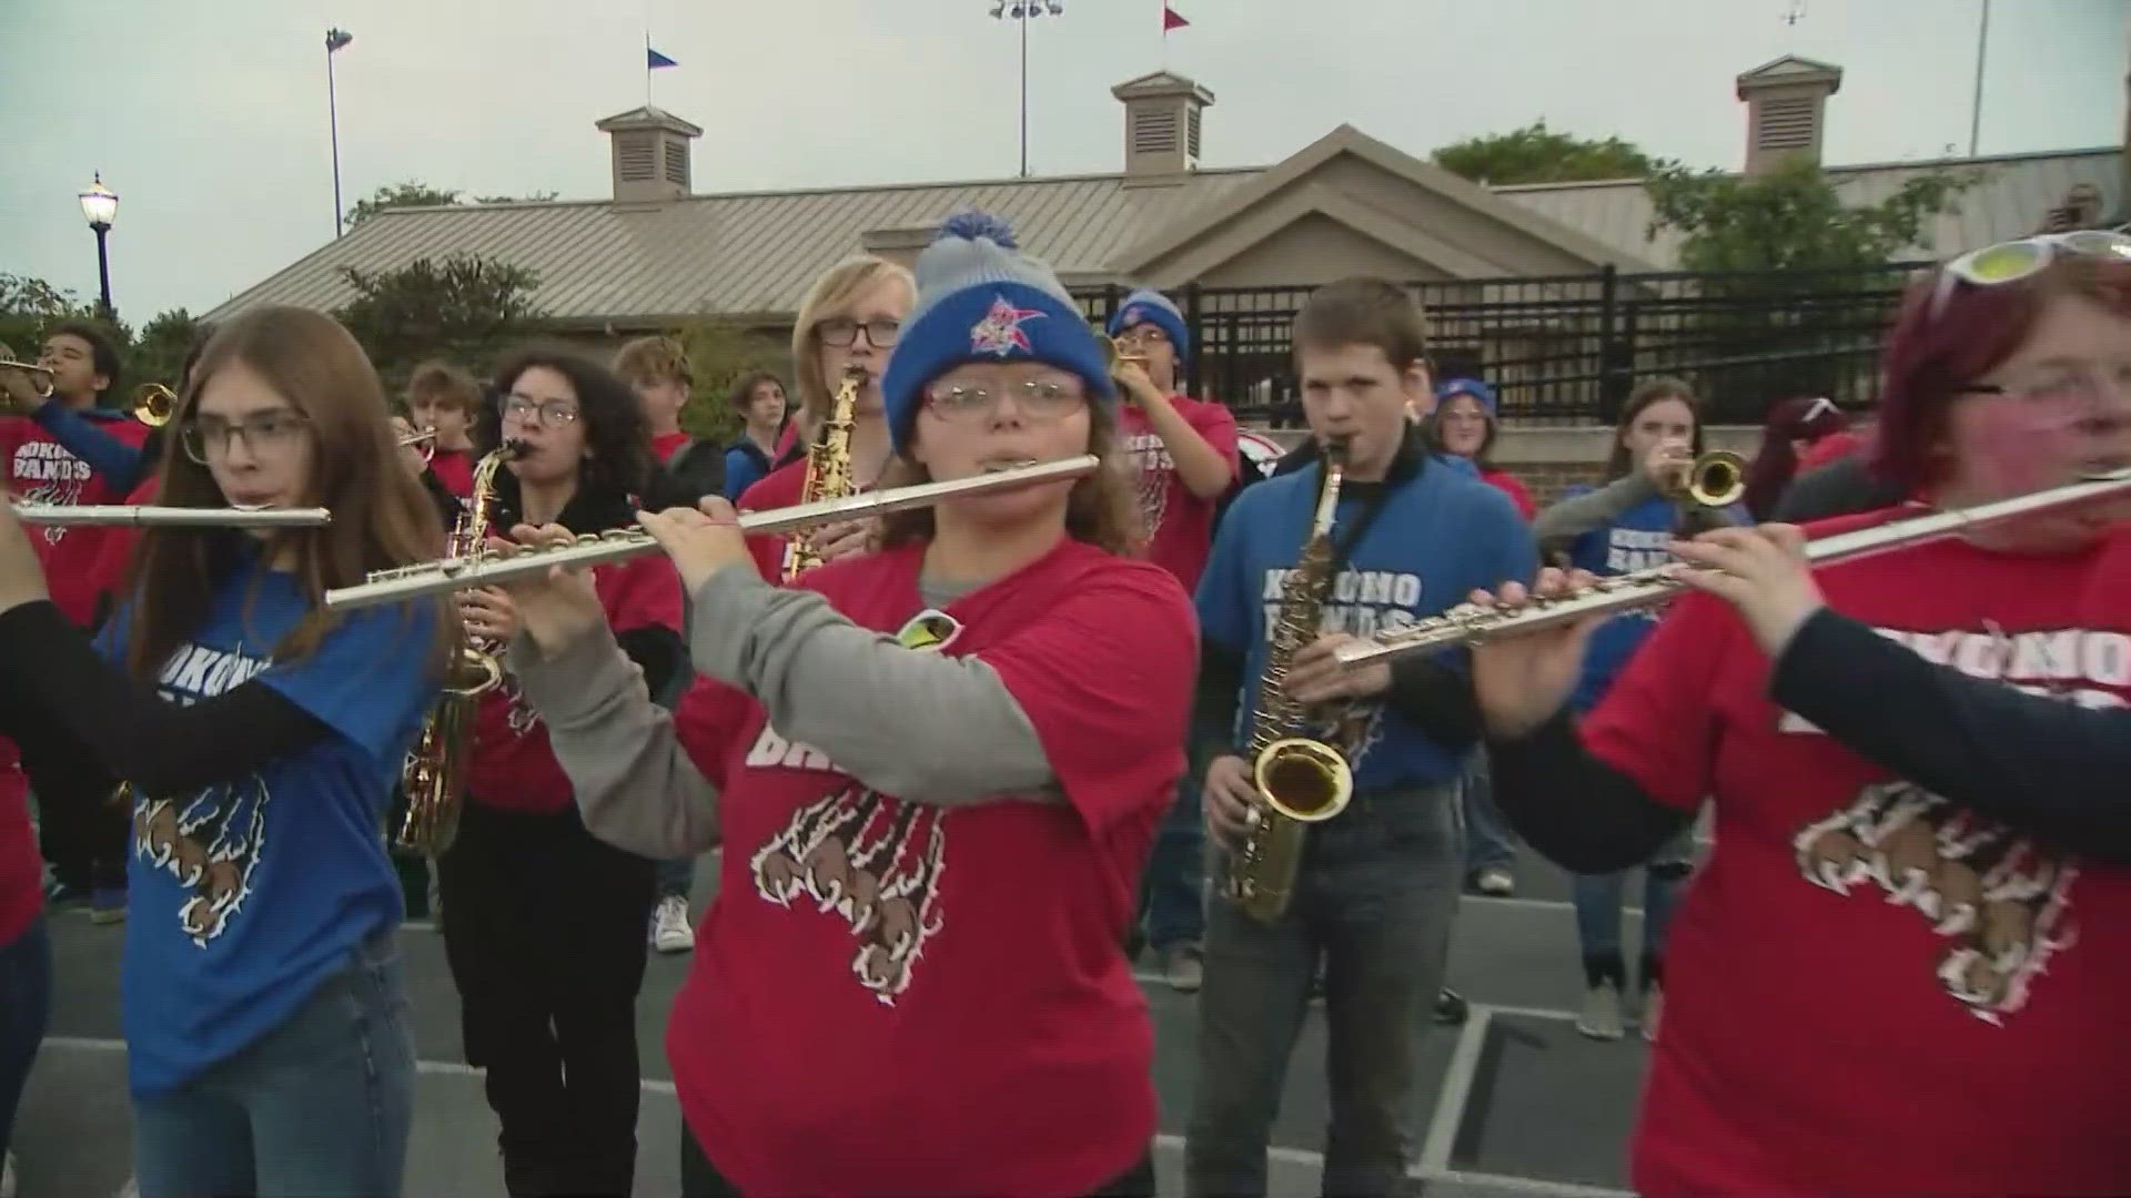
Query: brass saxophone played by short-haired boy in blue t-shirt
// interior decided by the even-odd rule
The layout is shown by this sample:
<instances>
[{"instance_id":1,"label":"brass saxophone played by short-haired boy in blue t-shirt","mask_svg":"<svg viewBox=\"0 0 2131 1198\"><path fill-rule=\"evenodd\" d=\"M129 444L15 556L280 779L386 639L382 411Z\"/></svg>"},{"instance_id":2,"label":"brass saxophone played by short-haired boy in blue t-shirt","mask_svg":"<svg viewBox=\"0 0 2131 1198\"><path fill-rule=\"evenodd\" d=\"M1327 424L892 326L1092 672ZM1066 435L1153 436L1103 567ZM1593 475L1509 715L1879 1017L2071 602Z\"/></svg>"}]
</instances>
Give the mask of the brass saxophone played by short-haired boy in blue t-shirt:
<instances>
[{"instance_id":1,"label":"brass saxophone played by short-haired boy in blue t-shirt","mask_svg":"<svg viewBox=\"0 0 2131 1198\"><path fill-rule=\"evenodd\" d=\"M1242 844L1230 857L1225 891L1245 914L1262 923L1272 923L1287 910L1308 825L1347 810L1347 799L1353 797L1347 759L1338 748L1302 735L1311 712L1285 693L1289 663L1302 646L1317 640L1323 625L1323 603L1332 593L1332 520L1345 473L1347 446L1328 446L1311 539L1281 586L1281 614L1272 625L1272 648L1257 684L1257 716L1251 727L1257 804Z\"/></svg>"}]
</instances>

